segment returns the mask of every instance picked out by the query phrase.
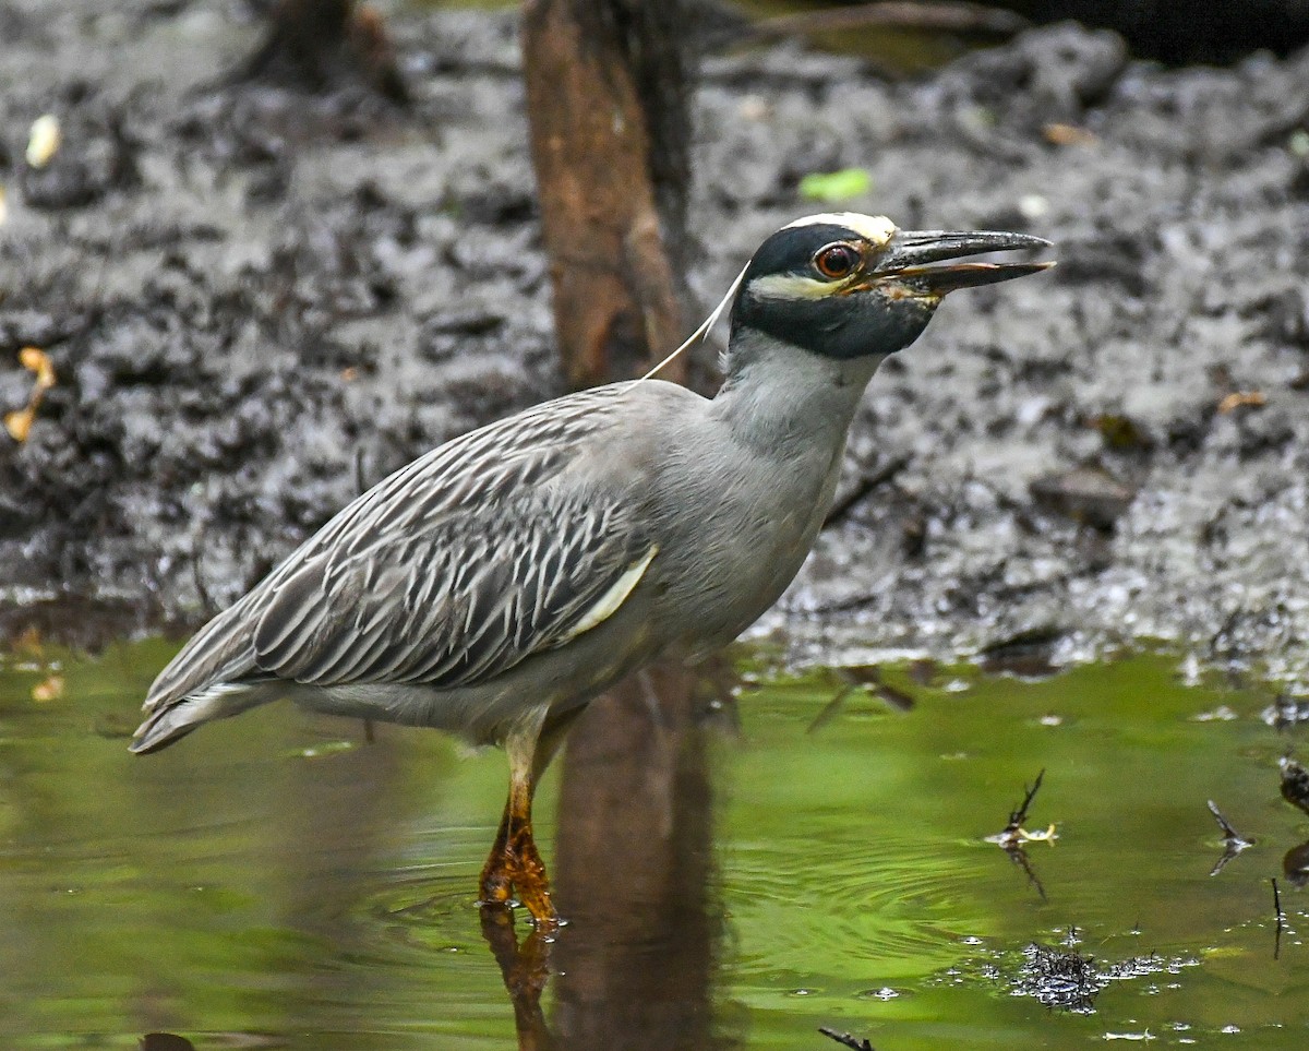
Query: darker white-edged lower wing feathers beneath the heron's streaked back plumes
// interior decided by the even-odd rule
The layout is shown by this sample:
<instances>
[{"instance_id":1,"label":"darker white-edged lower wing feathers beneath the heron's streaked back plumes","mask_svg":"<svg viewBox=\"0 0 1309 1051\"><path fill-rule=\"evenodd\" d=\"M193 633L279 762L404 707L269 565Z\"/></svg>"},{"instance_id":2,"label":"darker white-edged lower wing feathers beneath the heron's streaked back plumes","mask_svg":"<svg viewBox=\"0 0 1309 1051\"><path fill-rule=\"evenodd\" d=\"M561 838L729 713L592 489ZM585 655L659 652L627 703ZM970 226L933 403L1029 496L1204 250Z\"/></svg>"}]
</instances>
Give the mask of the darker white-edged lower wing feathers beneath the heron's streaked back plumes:
<instances>
[{"instance_id":1,"label":"darker white-edged lower wing feathers beneath the heron's streaked back plumes","mask_svg":"<svg viewBox=\"0 0 1309 1051\"><path fill-rule=\"evenodd\" d=\"M529 493L453 512L301 565L262 611L255 664L318 685L483 683L567 642L649 554L615 502Z\"/></svg>"}]
</instances>

